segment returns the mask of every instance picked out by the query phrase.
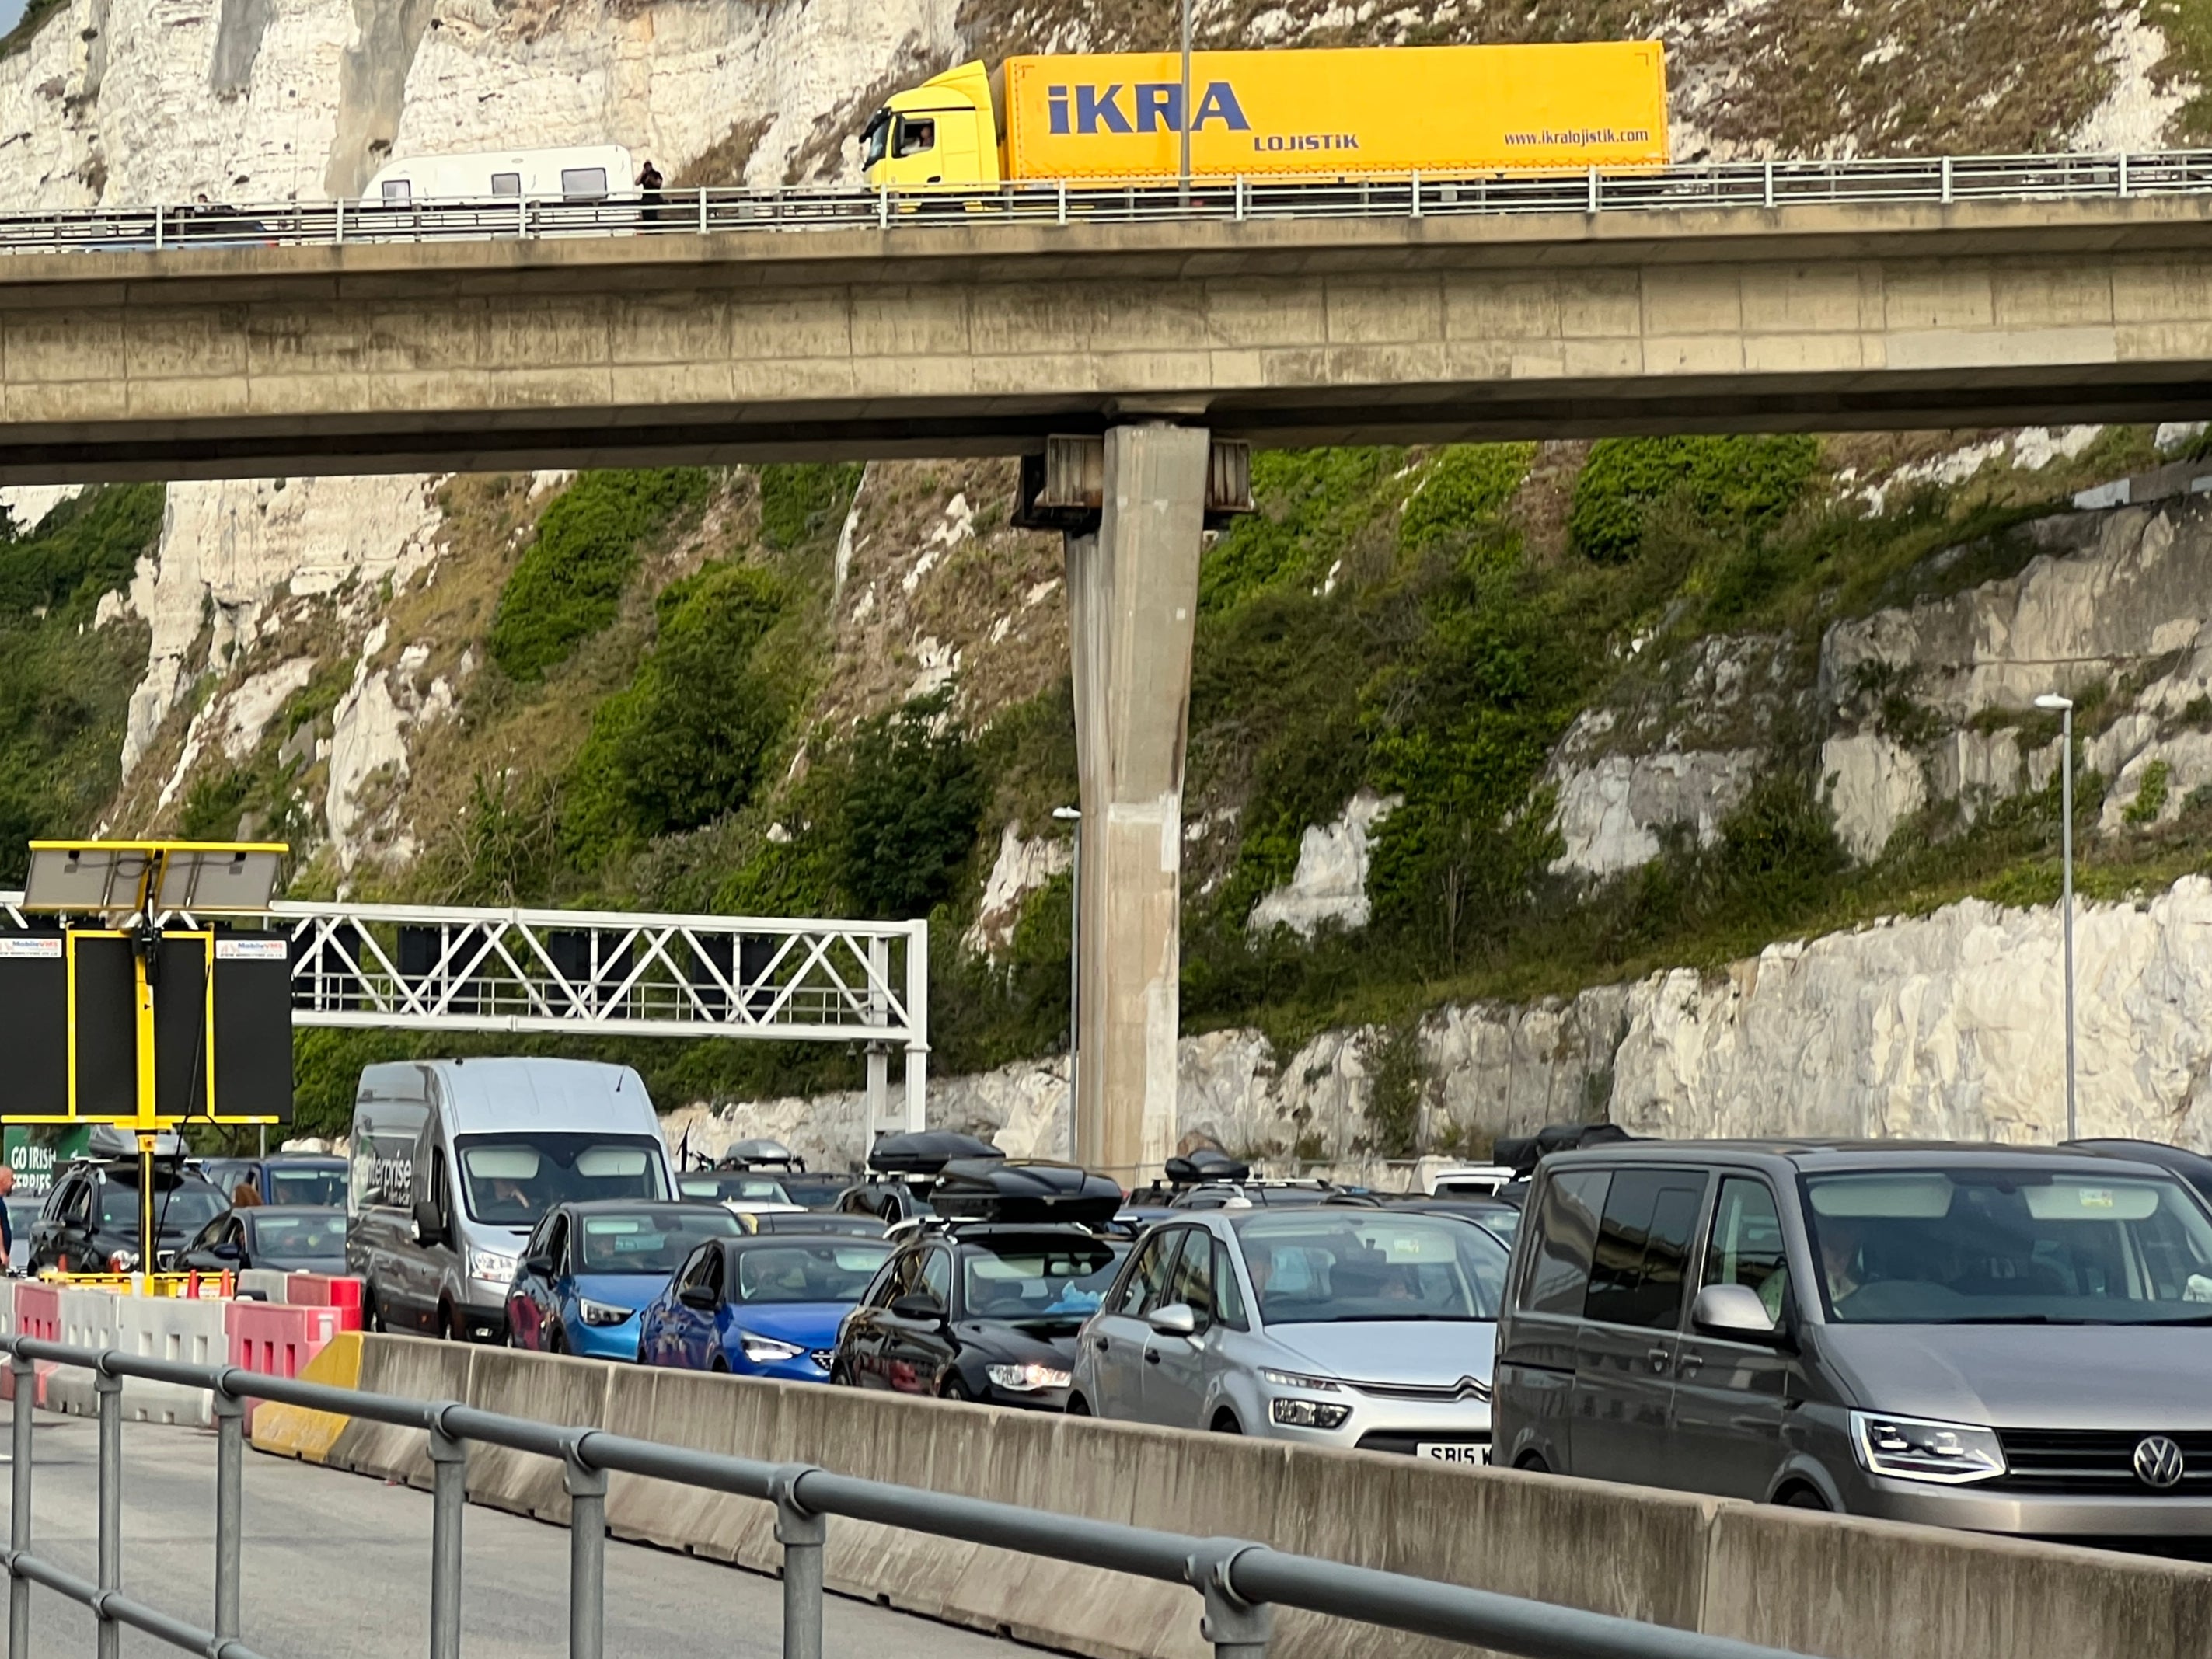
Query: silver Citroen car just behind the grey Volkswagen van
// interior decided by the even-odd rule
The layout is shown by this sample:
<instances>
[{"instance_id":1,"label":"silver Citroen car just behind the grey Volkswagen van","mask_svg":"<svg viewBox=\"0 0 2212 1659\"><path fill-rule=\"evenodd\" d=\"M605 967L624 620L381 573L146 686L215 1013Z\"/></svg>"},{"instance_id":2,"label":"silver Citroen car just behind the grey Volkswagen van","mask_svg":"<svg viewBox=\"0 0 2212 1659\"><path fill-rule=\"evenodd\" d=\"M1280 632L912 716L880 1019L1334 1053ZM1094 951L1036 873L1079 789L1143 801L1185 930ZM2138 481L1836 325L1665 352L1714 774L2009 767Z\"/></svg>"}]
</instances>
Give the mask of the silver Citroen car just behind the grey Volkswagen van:
<instances>
[{"instance_id":1,"label":"silver Citroen car just behind the grey Volkswagen van","mask_svg":"<svg viewBox=\"0 0 2212 1659\"><path fill-rule=\"evenodd\" d=\"M1068 1411L1486 1462L1506 1250L1349 1206L1152 1228L1084 1323Z\"/></svg>"}]
</instances>

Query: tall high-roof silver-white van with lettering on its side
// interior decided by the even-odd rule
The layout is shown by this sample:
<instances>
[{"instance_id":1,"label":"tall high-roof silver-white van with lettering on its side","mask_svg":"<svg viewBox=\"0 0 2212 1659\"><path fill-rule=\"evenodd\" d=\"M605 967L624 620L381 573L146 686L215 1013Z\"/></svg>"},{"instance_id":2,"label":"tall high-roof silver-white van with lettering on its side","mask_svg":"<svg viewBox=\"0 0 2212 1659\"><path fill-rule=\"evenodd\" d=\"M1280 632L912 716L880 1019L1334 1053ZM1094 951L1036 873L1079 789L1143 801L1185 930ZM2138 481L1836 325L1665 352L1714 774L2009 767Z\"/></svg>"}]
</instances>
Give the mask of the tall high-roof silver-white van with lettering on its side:
<instances>
[{"instance_id":1,"label":"tall high-roof silver-white van with lettering on its side","mask_svg":"<svg viewBox=\"0 0 2212 1659\"><path fill-rule=\"evenodd\" d=\"M354 1095L345 1265L369 1329L498 1343L531 1228L573 1199L672 1199L644 1079L591 1060L409 1060Z\"/></svg>"}]
</instances>

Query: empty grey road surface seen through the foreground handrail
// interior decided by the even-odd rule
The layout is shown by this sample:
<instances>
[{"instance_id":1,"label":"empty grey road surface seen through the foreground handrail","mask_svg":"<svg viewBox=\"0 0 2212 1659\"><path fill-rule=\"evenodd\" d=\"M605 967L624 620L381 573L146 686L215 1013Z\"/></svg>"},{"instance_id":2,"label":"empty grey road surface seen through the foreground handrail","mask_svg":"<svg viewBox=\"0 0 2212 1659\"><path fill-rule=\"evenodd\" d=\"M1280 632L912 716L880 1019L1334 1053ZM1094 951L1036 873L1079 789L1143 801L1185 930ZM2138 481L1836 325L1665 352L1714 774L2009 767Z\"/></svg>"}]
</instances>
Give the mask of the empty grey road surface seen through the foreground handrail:
<instances>
[{"instance_id":1,"label":"empty grey road surface seen through the foreground handrail","mask_svg":"<svg viewBox=\"0 0 2212 1659\"><path fill-rule=\"evenodd\" d=\"M0 1413L0 1425L7 1418ZM97 1425L40 1416L33 1553L97 1575ZM0 1433L0 1467L7 1464ZM0 1478L0 1511L7 1509ZM215 1615L215 1433L124 1427L124 1590L206 1628ZM469 1506L462 1524L467 1659L568 1650L568 1533ZM422 1659L429 1652L429 1493L246 1451L241 1639L268 1659ZM608 1659L774 1659L783 1586L690 1555L606 1542ZM825 1659L1020 1659L1033 1648L832 1595ZM31 1588L31 1652L93 1650L93 1615ZM126 1659L175 1655L122 1632Z\"/></svg>"}]
</instances>

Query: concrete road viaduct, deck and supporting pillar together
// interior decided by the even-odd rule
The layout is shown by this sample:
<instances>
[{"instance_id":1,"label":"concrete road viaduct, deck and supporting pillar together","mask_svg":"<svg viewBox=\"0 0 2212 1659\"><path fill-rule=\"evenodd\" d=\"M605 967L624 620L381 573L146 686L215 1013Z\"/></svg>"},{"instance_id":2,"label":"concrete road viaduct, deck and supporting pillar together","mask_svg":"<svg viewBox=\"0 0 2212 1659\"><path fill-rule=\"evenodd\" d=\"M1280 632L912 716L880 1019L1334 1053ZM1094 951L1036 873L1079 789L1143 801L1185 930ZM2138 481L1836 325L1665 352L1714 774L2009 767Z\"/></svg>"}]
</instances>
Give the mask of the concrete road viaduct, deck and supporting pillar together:
<instances>
[{"instance_id":1,"label":"concrete road viaduct, deck and supporting pillar together","mask_svg":"<svg viewBox=\"0 0 2212 1659\"><path fill-rule=\"evenodd\" d=\"M2212 199L916 223L0 259L0 482L1035 453L1068 533L1079 1155L1175 1137L1210 438L2201 418Z\"/></svg>"}]
</instances>

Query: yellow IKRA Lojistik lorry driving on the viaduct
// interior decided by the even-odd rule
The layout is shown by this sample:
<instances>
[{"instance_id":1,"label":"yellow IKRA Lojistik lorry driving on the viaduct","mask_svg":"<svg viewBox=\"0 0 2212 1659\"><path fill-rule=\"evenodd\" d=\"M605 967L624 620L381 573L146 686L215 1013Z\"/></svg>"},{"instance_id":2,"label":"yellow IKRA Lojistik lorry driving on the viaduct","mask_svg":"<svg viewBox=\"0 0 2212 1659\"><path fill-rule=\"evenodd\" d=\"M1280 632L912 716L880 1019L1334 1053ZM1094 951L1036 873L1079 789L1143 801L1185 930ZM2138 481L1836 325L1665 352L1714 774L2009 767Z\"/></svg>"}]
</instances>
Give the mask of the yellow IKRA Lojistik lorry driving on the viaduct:
<instances>
[{"instance_id":1,"label":"yellow IKRA Lojistik lorry driving on the viaduct","mask_svg":"<svg viewBox=\"0 0 2212 1659\"><path fill-rule=\"evenodd\" d=\"M1172 181L1181 133L1177 53L1009 58L998 71L962 64L894 95L867 124L863 164L885 190ZM1666 161L1666 49L1657 40L1190 58L1192 177Z\"/></svg>"}]
</instances>

